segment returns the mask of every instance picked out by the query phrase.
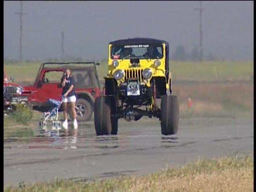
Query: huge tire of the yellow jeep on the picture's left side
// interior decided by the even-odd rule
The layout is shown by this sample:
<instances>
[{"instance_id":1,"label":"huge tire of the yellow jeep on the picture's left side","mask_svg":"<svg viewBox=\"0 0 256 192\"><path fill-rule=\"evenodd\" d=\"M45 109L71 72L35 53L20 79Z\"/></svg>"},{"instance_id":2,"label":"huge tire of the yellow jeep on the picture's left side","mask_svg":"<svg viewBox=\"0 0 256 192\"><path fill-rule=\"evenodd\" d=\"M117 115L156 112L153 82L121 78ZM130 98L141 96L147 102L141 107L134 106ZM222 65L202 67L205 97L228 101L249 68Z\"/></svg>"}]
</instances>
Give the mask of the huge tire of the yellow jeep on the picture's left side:
<instances>
[{"instance_id":1,"label":"huge tire of the yellow jeep on the picture's left side","mask_svg":"<svg viewBox=\"0 0 256 192\"><path fill-rule=\"evenodd\" d=\"M114 113L115 100L112 96L100 96L94 104L94 126L96 135L117 134L118 118Z\"/></svg>"}]
</instances>

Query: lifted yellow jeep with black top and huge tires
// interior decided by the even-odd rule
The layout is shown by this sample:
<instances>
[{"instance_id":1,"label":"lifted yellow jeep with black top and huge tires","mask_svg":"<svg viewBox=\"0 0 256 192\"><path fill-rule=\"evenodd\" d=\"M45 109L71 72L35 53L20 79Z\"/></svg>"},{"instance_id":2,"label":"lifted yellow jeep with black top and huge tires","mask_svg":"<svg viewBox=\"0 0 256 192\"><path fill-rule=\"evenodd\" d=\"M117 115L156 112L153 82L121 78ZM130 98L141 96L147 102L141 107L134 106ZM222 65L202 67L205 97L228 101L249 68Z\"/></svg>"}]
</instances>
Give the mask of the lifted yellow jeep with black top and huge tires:
<instances>
[{"instance_id":1,"label":"lifted yellow jeep with black top and huge tires","mask_svg":"<svg viewBox=\"0 0 256 192\"><path fill-rule=\"evenodd\" d=\"M137 121L142 116L159 118L162 134L176 134L179 106L170 95L168 42L129 38L110 42L108 50L105 95L96 98L94 107L96 134L117 134L119 118Z\"/></svg>"}]
</instances>

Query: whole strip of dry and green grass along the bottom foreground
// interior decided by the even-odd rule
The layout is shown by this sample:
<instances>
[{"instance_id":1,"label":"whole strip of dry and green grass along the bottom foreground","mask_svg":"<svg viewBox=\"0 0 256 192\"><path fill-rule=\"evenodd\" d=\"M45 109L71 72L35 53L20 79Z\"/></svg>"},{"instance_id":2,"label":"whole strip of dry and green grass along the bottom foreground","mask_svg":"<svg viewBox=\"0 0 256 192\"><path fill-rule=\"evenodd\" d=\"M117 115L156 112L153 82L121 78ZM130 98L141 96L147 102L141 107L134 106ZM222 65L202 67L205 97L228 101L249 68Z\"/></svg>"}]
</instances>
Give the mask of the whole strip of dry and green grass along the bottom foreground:
<instances>
[{"instance_id":1,"label":"whole strip of dry and green grass along the bottom foreground","mask_svg":"<svg viewBox=\"0 0 256 192\"><path fill-rule=\"evenodd\" d=\"M253 158L224 157L199 159L178 168L167 167L159 173L142 176L83 182L54 180L32 185L8 186L5 192L251 192L253 191Z\"/></svg>"}]
</instances>

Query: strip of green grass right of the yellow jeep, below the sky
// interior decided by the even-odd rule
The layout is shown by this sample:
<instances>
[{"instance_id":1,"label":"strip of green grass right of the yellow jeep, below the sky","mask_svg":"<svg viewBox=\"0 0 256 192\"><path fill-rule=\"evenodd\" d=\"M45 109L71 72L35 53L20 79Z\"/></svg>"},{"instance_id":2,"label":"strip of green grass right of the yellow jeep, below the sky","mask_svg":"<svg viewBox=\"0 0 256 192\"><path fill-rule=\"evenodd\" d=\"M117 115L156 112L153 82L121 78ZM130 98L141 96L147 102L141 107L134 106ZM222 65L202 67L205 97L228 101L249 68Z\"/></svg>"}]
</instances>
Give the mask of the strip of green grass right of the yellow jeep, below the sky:
<instances>
[{"instance_id":1,"label":"strip of green grass right of the yellow jeep, below the sky","mask_svg":"<svg viewBox=\"0 0 256 192\"><path fill-rule=\"evenodd\" d=\"M214 70L214 67L216 70ZM252 80L253 62L175 62L170 61L174 80Z\"/></svg>"}]
</instances>

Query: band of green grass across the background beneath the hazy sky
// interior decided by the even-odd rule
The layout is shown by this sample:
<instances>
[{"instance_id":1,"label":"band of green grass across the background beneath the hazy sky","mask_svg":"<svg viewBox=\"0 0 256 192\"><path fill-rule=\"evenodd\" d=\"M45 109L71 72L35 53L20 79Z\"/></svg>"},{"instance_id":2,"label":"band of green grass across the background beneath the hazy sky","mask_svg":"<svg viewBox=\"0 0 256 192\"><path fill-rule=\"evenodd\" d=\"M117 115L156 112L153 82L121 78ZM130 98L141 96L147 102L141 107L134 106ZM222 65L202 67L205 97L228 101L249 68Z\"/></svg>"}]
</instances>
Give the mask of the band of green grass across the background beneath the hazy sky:
<instances>
[{"instance_id":1,"label":"band of green grass across the background beneath the hazy sky","mask_svg":"<svg viewBox=\"0 0 256 192\"><path fill-rule=\"evenodd\" d=\"M15 82L33 83L42 61L4 62L8 76L14 76ZM214 70L214 67L216 70ZM97 67L100 79L107 74L107 61ZM214 62L176 62L170 61L170 70L175 80L252 80L253 61L214 61Z\"/></svg>"}]
</instances>

